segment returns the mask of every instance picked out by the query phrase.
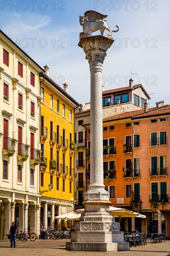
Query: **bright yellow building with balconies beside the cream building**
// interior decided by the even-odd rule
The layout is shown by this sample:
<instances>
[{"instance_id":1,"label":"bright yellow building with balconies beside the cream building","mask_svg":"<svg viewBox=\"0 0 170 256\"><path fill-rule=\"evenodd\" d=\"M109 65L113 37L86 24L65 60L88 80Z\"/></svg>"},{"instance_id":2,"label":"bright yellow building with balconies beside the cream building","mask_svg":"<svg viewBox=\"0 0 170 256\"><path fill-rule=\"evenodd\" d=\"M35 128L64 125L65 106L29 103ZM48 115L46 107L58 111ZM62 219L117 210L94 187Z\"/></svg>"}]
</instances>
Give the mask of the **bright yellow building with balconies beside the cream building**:
<instances>
[{"instance_id":1,"label":"bright yellow building with balconies beside the cream building","mask_svg":"<svg viewBox=\"0 0 170 256\"><path fill-rule=\"evenodd\" d=\"M40 73L40 225L61 229L69 222L54 216L74 210L74 109L78 106L64 89L49 78L49 68Z\"/></svg>"}]
</instances>

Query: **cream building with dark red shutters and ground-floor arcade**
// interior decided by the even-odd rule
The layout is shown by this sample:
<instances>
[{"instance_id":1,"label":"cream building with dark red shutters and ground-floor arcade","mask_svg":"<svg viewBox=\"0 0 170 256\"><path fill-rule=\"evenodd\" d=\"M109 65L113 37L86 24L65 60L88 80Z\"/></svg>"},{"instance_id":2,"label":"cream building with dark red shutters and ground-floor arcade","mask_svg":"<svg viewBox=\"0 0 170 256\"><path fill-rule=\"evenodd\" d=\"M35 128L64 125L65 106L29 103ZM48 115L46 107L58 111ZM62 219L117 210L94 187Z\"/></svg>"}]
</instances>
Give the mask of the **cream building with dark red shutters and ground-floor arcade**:
<instances>
[{"instance_id":1,"label":"cream building with dark red shutters and ground-floor arcade","mask_svg":"<svg viewBox=\"0 0 170 256\"><path fill-rule=\"evenodd\" d=\"M39 72L0 31L0 239L11 222L39 234Z\"/></svg>"}]
</instances>

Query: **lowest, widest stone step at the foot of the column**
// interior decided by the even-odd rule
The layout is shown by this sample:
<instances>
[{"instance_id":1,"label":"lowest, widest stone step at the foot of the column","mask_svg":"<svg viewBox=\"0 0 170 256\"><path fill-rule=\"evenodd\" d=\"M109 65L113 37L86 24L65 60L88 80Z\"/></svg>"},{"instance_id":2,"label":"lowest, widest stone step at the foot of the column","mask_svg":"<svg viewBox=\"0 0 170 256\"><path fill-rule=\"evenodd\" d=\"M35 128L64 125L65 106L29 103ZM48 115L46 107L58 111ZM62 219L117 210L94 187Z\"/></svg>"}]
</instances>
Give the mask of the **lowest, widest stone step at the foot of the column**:
<instances>
[{"instance_id":1,"label":"lowest, widest stone step at the foot of the column","mask_svg":"<svg viewBox=\"0 0 170 256\"><path fill-rule=\"evenodd\" d=\"M129 243L74 243L66 242L69 251L129 251Z\"/></svg>"}]
</instances>

